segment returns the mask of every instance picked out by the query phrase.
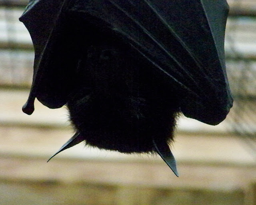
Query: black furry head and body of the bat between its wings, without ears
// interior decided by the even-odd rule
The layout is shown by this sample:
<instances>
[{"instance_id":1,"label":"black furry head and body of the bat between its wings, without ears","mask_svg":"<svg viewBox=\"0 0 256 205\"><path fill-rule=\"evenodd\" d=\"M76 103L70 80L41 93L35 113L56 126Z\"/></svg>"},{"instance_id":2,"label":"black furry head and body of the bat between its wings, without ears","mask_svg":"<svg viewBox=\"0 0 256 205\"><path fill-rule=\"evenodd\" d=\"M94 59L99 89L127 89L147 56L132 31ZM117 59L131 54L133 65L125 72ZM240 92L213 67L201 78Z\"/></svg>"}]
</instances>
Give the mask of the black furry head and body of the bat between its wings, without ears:
<instances>
[{"instance_id":1,"label":"black furry head and body of the bat between its wings, without ears","mask_svg":"<svg viewBox=\"0 0 256 205\"><path fill-rule=\"evenodd\" d=\"M173 141L178 95L126 50L113 42L88 48L67 103L70 120L93 147L153 152L152 138Z\"/></svg>"}]
</instances>

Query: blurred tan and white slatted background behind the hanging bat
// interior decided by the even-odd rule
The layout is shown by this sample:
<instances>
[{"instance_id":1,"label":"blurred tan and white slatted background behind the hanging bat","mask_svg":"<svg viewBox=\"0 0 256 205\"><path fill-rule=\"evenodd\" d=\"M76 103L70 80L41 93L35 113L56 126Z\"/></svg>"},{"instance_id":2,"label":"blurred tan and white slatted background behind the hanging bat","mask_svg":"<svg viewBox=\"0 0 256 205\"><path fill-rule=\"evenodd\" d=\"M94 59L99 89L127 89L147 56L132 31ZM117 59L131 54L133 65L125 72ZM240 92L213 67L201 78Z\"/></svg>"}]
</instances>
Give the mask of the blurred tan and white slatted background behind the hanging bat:
<instances>
[{"instance_id":1,"label":"blurred tan and white slatted background behind the hanging bat","mask_svg":"<svg viewBox=\"0 0 256 205\"><path fill-rule=\"evenodd\" d=\"M65 108L22 113L34 52L18 21L28 0L0 0L0 205L256 205L256 1L228 0L226 65L234 107L217 126L181 117L172 150L180 177L157 156L76 145Z\"/></svg>"}]
</instances>

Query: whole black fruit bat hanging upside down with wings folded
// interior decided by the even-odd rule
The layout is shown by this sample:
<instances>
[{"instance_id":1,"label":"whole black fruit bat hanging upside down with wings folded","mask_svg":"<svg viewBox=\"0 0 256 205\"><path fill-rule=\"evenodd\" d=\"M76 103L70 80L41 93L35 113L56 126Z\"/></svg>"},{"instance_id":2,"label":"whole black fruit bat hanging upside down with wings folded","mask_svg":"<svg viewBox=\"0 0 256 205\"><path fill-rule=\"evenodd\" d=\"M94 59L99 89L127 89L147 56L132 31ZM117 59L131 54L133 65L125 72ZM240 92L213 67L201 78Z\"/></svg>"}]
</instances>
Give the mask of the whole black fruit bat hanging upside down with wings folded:
<instances>
[{"instance_id":1,"label":"whole black fruit bat hanging upside down with wings folded","mask_svg":"<svg viewBox=\"0 0 256 205\"><path fill-rule=\"evenodd\" d=\"M228 10L226 0L30 0L20 21L34 75L22 110L32 114L35 98L66 105L76 133L57 153L82 141L158 153L178 176L178 115L216 125L232 107Z\"/></svg>"}]
</instances>

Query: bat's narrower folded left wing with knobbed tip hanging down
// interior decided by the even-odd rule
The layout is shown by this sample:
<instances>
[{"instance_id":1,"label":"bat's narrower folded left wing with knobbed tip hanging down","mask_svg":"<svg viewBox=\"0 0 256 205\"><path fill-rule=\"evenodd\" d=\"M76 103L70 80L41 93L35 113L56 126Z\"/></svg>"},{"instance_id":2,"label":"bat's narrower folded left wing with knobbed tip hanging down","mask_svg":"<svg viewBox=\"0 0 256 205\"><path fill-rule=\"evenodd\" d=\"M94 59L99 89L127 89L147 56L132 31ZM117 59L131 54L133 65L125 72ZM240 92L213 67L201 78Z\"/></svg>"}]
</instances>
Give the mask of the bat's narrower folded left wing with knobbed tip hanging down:
<instances>
[{"instance_id":1,"label":"bat's narrower folded left wing with knobbed tip hanging down","mask_svg":"<svg viewBox=\"0 0 256 205\"><path fill-rule=\"evenodd\" d=\"M30 33L35 52L32 87L28 101L22 107L27 114L33 113L35 98L50 108L66 104L74 79L73 63L77 60L74 48L71 48L76 42L68 39L63 21L66 2L30 0L20 17Z\"/></svg>"}]
</instances>

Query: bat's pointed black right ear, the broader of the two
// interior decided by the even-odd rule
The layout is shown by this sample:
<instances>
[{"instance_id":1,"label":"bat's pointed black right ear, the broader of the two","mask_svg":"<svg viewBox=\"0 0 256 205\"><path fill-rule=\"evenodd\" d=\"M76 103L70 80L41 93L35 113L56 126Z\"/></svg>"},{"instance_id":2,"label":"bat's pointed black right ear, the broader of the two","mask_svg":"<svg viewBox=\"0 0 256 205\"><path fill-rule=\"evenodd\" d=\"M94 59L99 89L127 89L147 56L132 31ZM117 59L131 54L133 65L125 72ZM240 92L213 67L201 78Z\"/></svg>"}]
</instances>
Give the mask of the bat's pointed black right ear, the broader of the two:
<instances>
[{"instance_id":1,"label":"bat's pointed black right ear, the broader of the two","mask_svg":"<svg viewBox=\"0 0 256 205\"><path fill-rule=\"evenodd\" d=\"M174 174L179 177L177 168L176 168L176 161L174 156L170 150L170 147L167 143L163 143L161 145L157 145L155 140L152 139L156 152L160 155L160 157L165 161L165 163L172 169Z\"/></svg>"}]
</instances>

